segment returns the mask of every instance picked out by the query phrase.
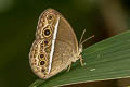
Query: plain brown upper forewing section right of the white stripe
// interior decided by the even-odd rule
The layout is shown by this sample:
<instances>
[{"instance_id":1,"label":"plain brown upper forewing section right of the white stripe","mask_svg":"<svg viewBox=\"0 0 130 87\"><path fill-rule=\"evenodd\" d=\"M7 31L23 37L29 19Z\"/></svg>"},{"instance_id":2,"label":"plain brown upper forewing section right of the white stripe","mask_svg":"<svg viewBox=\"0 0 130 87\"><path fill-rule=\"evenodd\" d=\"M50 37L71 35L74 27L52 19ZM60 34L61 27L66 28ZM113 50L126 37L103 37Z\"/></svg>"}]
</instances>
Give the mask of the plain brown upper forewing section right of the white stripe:
<instances>
[{"instance_id":1,"label":"plain brown upper forewing section right of the white stripe","mask_svg":"<svg viewBox=\"0 0 130 87\"><path fill-rule=\"evenodd\" d=\"M58 24L58 30L57 30L57 38L56 40L64 41L66 44L69 44L74 51L77 53L78 52L78 41L76 38L76 35L69 25L69 23L65 20L65 17L60 14L60 24Z\"/></svg>"}]
</instances>

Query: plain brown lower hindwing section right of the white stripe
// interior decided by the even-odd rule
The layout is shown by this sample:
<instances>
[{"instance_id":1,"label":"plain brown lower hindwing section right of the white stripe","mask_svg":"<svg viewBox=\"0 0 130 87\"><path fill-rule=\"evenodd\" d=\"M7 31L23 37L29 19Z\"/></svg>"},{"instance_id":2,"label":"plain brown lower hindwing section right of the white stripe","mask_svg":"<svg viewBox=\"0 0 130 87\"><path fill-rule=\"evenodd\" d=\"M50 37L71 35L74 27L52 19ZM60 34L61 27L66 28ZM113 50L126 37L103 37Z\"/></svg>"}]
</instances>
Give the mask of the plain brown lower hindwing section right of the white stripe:
<instances>
[{"instance_id":1,"label":"plain brown lower hindwing section right of the white stripe","mask_svg":"<svg viewBox=\"0 0 130 87\"><path fill-rule=\"evenodd\" d=\"M74 49L68 44L56 40L51 72L47 78L60 73L62 70L67 69L67 66L72 63L70 58L73 57L73 50Z\"/></svg>"}]
</instances>

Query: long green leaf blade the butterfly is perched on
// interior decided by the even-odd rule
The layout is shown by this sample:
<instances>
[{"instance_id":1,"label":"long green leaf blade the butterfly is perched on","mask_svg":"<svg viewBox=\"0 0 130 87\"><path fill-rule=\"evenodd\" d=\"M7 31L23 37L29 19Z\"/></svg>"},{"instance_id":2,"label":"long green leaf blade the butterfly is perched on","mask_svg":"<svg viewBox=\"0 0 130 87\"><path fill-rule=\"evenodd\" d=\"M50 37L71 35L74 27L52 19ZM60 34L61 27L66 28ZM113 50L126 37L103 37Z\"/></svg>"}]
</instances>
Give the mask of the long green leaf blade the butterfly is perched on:
<instances>
[{"instance_id":1,"label":"long green leaf blade the butterfly is perched on","mask_svg":"<svg viewBox=\"0 0 130 87\"><path fill-rule=\"evenodd\" d=\"M30 87L53 87L78 83L130 77L130 30L83 50L84 66L76 62L69 72L37 79Z\"/></svg>"}]
</instances>

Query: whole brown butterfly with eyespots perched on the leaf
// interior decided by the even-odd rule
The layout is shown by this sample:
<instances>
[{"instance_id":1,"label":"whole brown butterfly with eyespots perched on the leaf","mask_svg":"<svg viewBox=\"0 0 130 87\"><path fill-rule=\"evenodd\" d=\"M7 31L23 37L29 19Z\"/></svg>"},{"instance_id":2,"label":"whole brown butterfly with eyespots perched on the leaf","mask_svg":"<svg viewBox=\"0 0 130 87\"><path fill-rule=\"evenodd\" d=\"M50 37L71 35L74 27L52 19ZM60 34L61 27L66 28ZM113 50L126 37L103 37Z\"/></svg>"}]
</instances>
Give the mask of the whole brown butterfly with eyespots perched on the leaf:
<instances>
[{"instance_id":1,"label":"whole brown butterfly with eyespots perched on the leaf","mask_svg":"<svg viewBox=\"0 0 130 87\"><path fill-rule=\"evenodd\" d=\"M82 42L81 39L78 45L73 28L61 13L53 9L43 11L39 17L36 39L29 53L29 62L34 73L46 79L62 70L67 67L69 70L72 63L79 59L83 65L82 44L88 39Z\"/></svg>"}]
</instances>

